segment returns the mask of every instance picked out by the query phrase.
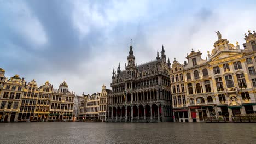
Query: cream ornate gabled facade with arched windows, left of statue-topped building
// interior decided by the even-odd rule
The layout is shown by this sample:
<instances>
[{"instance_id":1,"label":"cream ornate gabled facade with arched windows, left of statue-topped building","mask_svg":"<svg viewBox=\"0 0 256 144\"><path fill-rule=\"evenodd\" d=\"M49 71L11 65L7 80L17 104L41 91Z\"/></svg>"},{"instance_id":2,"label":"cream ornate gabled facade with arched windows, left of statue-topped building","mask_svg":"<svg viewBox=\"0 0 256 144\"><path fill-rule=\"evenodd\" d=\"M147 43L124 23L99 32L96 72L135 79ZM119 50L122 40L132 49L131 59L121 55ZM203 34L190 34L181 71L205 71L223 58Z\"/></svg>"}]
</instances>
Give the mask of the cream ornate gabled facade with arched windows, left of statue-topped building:
<instances>
[{"instance_id":1,"label":"cream ornate gabled facade with arched windows, left of statue-topped building","mask_svg":"<svg viewBox=\"0 0 256 144\"><path fill-rule=\"evenodd\" d=\"M201 58L202 53L194 50L186 57L183 66L185 75L185 89L189 107L189 121L204 121L205 116L215 115L212 88L212 77L208 68L207 60Z\"/></svg>"}]
</instances>

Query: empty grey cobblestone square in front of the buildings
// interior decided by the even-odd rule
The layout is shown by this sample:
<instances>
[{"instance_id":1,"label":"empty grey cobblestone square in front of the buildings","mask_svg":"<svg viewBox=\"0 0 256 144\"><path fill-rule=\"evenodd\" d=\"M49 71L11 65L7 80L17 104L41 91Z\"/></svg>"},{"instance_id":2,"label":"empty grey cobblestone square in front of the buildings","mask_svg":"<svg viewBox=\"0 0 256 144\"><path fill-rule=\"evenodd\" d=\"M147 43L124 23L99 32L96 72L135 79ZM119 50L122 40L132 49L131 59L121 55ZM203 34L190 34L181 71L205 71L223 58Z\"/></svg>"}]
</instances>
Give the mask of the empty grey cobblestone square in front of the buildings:
<instances>
[{"instance_id":1,"label":"empty grey cobblestone square in front of the buildings","mask_svg":"<svg viewBox=\"0 0 256 144\"><path fill-rule=\"evenodd\" d=\"M255 123L0 123L0 143L255 143Z\"/></svg>"}]
</instances>

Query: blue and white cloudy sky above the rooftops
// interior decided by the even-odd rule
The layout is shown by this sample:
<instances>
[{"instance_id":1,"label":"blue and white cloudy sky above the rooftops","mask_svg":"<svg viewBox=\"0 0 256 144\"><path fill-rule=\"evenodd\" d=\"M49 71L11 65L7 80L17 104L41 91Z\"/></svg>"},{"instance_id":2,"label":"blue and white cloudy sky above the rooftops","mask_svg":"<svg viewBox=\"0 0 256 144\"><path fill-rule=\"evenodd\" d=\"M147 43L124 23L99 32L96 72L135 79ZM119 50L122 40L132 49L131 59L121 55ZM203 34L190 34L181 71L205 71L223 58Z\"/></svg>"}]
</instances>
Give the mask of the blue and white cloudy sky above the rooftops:
<instances>
[{"instance_id":1,"label":"blue and white cloudy sky above the rooftops","mask_svg":"<svg viewBox=\"0 0 256 144\"><path fill-rule=\"evenodd\" d=\"M38 85L66 79L77 95L110 89L113 67L125 69L130 39L136 63L165 47L184 63L191 49L206 57L222 37L242 47L255 30L254 1L4 1L0 0L0 67Z\"/></svg>"}]
</instances>

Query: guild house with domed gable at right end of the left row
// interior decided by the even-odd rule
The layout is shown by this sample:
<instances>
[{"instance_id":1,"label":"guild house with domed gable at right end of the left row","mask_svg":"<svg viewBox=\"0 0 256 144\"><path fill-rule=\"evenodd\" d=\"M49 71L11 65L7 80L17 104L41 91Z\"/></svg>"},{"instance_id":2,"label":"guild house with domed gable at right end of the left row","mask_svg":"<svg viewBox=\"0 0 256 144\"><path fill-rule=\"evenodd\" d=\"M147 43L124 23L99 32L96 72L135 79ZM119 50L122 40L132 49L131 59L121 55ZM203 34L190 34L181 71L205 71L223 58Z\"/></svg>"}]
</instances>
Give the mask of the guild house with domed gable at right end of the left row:
<instances>
[{"instance_id":1,"label":"guild house with domed gable at right end of the left row","mask_svg":"<svg viewBox=\"0 0 256 144\"><path fill-rule=\"evenodd\" d=\"M53 89L48 120L73 120L74 97L75 94L69 92L65 81L60 84L59 89Z\"/></svg>"}]
</instances>

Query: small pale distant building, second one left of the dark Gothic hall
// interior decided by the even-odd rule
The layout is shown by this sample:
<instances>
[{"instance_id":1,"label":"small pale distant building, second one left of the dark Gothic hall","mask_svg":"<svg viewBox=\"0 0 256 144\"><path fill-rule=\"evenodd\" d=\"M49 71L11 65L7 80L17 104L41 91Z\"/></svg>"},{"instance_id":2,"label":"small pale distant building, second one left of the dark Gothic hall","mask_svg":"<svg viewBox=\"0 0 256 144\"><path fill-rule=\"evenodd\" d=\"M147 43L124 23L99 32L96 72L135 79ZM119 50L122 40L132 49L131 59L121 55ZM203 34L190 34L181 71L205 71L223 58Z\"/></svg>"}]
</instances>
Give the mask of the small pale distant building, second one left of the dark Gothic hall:
<instances>
[{"instance_id":1,"label":"small pale distant building, second one left of the dark Gothic hall","mask_svg":"<svg viewBox=\"0 0 256 144\"><path fill-rule=\"evenodd\" d=\"M94 93L92 95L85 96L86 101L86 114L85 119L96 120L98 119L98 111L100 107L100 95L101 93Z\"/></svg>"}]
</instances>

